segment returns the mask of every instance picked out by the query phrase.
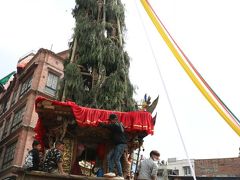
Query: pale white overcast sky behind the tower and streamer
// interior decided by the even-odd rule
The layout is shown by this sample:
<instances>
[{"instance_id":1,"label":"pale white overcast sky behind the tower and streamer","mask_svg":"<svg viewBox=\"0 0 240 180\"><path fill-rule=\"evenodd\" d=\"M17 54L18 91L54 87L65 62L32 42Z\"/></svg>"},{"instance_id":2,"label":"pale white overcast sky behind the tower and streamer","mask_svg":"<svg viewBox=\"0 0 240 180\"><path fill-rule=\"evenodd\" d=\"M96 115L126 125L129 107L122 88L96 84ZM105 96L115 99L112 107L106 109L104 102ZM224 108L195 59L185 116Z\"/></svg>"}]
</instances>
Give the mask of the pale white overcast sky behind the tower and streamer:
<instances>
[{"instance_id":1,"label":"pale white overcast sky behind the tower and streamer","mask_svg":"<svg viewBox=\"0 0 240 180\"><path fill-rule=\"evenodd\" d=\"M190 158L238 156L239 136L191 82L140 2L123 2L127 26L125 49L131 57L130 78L136 86L135 97L140 101L145 93L152 99L160 96L155 134L146 138L144 154L147 156L150 150L157 149L162 159L186 159L148 36ZM194 66L239 117L239 0L149 2ZM73 7L74 0L0 1L0 77L16 70L19 58L32 50L67 49L74 27Z\"/></svg>"}]
</instances>

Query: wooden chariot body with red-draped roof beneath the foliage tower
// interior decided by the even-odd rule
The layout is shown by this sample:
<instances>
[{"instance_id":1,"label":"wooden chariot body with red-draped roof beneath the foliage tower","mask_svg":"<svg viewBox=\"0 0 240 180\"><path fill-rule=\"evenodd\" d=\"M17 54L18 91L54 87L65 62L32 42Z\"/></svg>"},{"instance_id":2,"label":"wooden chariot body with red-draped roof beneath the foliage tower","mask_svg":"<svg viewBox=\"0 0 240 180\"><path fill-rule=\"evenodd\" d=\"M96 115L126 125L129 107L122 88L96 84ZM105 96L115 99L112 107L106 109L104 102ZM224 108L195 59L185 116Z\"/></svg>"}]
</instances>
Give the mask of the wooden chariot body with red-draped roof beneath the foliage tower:
<instances>
[{"instance_id":1,"label":"wooden chariot body with red-draped roof beneath the foliage tower","mask_svg":"<svg viewBox=\"0 0 240 180\"><path fill-rule=\"evenodd\" d=\"M95 176L97 169L107 169L106 154L112 148L110 132L99 127L108 123L115 113L125 127L128 153L132 154L143 143L143 138L153 134L155 119L151 113L141 110L118 112L81 107L74 102L60 102L44 97L36 99L39 120L35 138L49 149L56 140L65 143L64 170L73 175ZM123 166L126 159L123 158ZM123 167L124 168L124 167Z\"/></svg>"}]
</instances>

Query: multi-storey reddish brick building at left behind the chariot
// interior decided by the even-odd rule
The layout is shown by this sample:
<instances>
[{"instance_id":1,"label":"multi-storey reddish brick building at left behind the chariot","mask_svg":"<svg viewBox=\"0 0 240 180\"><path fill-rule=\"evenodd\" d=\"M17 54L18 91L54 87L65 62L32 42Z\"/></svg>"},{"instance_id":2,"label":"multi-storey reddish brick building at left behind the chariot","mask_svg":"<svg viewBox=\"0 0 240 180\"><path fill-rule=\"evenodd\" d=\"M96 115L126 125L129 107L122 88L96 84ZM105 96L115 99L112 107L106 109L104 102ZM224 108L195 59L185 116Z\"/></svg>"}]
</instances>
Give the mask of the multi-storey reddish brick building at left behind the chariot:
<instances>
[{"instance_id":1,"label":"multi-storey reddish brick building at left behind the chariot","mask_svg":"<svg viewBox=\"0 0 240 180\"><path fill-rule=\"evenodd\" d=\"M17 73L0 94L0 177L12 175L13 167L22 166L34 138L37 122L36 96L55 98L63 61L68 51L55 54L40 49L20 59Z\"/></svg>"}]
</instances>

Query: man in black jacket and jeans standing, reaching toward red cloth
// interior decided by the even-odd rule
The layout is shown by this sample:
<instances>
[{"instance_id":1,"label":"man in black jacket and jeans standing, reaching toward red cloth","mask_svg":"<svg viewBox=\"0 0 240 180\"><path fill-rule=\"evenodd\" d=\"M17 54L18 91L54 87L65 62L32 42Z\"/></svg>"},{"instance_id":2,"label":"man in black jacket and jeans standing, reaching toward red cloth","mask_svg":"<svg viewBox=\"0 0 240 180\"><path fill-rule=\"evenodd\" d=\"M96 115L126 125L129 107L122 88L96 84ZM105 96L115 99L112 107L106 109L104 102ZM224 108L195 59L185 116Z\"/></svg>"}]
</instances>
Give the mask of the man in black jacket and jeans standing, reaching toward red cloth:
<instances>
[{"instance_id":1,"label":"man in black jacket and jeans standing, reaching toward red cloth","mask_svg":"<svg viewBox=\"0 0 240 180\"><path fill-rule=\"evenodd\" d=\"M114 164L117 168L117 176L123 177L122 165L120 158L122 157L124 150L127 148L127 138L124 133L124 127L121 122L118 121L116 114L109 116L110 124L100 123L101 127L107 128L111 131L111 138L114 147L107 155L108 170L109 173L106 176L114 176Z\"/></svg>"}]
</instances>

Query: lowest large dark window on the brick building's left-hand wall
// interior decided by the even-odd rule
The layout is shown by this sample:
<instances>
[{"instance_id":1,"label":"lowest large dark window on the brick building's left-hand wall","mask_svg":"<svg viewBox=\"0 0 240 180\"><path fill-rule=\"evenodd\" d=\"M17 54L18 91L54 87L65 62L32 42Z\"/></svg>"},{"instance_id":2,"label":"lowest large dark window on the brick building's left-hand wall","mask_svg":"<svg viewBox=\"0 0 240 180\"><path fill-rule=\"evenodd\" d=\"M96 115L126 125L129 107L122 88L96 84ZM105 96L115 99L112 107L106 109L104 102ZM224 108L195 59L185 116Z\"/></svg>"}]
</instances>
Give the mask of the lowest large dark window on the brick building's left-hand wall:
<instances>
[{"instance_id":1,"label":"lowest large dark window on the brick building's left-hand wall","mask_svg":"<svg viewBox=\"0 0 240 180\"><path fill-rule=\"evenodd\" d=\"M17 144L17 142L14 142L14 143L10 144L9 146L7 146L4 157L3 157L2 169L5 169L5 168L11 166L12 161L14 159L16 144Z\"/></svg>"}]
</instances>

